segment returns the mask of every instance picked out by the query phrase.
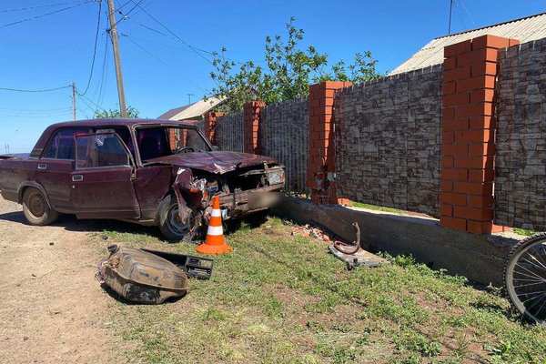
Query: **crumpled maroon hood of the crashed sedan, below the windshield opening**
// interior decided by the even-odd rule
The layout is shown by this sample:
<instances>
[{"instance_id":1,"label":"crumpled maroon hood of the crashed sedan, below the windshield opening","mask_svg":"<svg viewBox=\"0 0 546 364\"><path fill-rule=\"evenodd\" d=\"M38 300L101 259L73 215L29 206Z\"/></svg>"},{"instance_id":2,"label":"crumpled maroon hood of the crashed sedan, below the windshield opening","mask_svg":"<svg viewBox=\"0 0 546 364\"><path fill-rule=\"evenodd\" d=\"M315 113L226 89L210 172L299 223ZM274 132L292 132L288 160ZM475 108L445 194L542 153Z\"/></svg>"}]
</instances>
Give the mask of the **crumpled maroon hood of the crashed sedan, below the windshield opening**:
<instances>
[{"instance_id":1,"label":"crumpled maroon hood of the crashed sedan, below the windshield opening","mask_svg":"<svg viewBox=\"0 0 546 364\"><path fill-rule=\"evenodd\" d=\"M272 157L225 151L179 153L147 160L147 164L159 163L177 167L195 168L218 174L230 172L238 167L258 166L264 162L277 163Z\"/></svg>"}]
</instances>

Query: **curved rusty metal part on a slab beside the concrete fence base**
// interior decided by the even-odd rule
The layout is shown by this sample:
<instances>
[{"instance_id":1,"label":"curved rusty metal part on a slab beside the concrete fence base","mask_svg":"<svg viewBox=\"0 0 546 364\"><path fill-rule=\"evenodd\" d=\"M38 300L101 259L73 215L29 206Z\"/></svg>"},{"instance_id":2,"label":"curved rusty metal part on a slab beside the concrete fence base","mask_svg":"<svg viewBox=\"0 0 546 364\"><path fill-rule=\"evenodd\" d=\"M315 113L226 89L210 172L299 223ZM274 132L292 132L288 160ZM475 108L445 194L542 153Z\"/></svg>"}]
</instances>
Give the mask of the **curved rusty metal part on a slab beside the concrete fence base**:
<instances>
[{"instance_id":1,"label":"curved rusty metal part on a slab beside the concrete fence base","mask_svg":"<svg viewBox=\"0 0 546 364\"><path fill-rule=\"evenodd\" d=\"M380 258L375 254L362 248L360 244L360 227L356 222L352 223L355 228L355 240L351 244L336 240L329 245L329 251L336 258L344 261L347 264L347 269L351 270L355 267L379 267L382 264L388 263L384 258Z\"/></svg>"}]
</instances>

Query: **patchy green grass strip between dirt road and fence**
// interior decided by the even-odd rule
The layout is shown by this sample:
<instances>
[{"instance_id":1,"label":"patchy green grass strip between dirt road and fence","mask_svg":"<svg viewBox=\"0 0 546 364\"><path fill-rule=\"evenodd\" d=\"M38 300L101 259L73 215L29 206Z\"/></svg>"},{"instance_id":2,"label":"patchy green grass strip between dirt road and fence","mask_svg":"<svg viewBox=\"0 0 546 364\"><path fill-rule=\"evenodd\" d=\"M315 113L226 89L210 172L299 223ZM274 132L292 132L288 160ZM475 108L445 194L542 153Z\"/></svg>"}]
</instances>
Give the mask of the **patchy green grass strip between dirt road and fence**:
<instances>
[{"instance_id":1,"label":"patchy green grass strip between dirt road and fence","mask_svg":"<svg viewBox=\"0 0 546 364\"><path fill-rule=\"evenodd\" d=\"M193 253L154 235L105 231L125 246ZM160 306L114 304L114 332L146 363L544 363L546 329L507 300L409 257L345 270L326 245L269 218L227 237L213 278Z\"/></svg>"}]
</instances>

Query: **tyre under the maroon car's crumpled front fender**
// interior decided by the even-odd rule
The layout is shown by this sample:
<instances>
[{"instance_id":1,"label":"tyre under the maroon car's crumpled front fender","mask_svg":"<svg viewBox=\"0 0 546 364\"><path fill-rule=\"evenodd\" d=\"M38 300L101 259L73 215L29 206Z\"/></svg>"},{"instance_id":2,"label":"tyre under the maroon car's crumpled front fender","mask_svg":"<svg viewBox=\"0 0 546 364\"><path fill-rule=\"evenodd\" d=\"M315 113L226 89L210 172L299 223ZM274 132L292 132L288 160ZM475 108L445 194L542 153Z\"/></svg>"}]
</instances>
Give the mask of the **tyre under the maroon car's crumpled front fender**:
<instances>
[{"instance_id":1,"label":"tyre under the maroon car's crumpled front fender","mask_svg":"<svg viewBox=\"0 0 546 364\"><path fill-rule=\"evenodd\" d=\"M163 198L158 207L158 226L161 231L161 235L167 241L191 241L193 238L193 232L191 228L191 222L187 225L181 224L180 219L177 217L178 202L177 197L174 195L168 195ZM192 220L192 216L188 217L188 220Z\"/></svg>"}]
</instances>

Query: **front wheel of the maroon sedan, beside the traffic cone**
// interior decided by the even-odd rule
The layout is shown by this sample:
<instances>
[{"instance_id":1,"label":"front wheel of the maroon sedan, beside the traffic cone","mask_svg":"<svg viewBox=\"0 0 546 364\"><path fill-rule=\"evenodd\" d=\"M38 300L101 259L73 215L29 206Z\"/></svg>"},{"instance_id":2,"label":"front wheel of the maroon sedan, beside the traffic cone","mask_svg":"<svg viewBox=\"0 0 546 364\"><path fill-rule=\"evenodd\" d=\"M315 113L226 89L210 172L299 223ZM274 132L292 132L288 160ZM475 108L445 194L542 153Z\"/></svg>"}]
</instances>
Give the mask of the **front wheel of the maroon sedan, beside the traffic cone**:
<instances>
[{"instance_id":1,"label":"front wheel of the maroon sedan, beside the traffic cone","mask_svg":"<svg viewBox=\"0 0 546 364\"><path fill-rule=\"evenodd\" d=\"M178 213L177 197L169 195L161 201L159 206L159 229L161 234L168 241L184 240L190 242L196 232L198 225L198 217L195 212L184 205L186 216L184 220L180 218Z\"/></svg>"}]
</instances>

